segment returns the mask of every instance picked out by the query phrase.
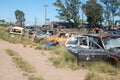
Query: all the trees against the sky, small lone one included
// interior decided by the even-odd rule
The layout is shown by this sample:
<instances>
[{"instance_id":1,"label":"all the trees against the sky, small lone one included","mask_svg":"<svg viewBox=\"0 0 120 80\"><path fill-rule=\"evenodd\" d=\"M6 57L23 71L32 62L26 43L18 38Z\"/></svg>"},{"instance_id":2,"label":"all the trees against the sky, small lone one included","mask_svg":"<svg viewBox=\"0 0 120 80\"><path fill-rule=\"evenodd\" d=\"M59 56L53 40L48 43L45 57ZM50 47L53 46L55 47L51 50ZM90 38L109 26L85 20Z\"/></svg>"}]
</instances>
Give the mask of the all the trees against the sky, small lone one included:
<instances>
[{"instance_id":1,"label":"all the trees against the sky, small lone one included","mask_svg":"<svg viewBox=\"0 0 120 80\"><path fill-rule=\"evenodd\" d=\"M86 21L92 26L97 26L103 22L108 26L114 26L120 19L115 20L115 17L120 18L120 0L88 0L82 3L81 0L56 0L53 5L56 7L59 20L73 24L78 27L84 21L80 20L80 9L86 16ZM25 22L25 14L23 11L15 11L16 20L22 23Z\"/></svg>"}]
</instances>

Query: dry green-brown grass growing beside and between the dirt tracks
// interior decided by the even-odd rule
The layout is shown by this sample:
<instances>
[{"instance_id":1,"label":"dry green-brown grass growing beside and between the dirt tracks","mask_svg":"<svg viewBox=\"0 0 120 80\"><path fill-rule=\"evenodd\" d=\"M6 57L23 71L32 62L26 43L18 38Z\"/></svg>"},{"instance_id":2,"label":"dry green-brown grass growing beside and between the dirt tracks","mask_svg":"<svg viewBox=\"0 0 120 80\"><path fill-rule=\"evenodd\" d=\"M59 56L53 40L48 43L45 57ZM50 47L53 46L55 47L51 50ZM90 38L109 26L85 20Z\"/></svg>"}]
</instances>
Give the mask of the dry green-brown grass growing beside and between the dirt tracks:
<instances>
[{"instance_id":1,"label":"dry green-brown grass growing beside and between the dirt tracks","mask_svg":"<svg viewBox=\"0 0 120 80\"><path fill-rule=\"evenodd\" d=\"M25 35L27 36L27 35ZM49 60L57 68L70 68L72 70L78 69L88 69L89 73L86 75L85 80L119 80L120 69L119 67L114 67L106 62L95 62L90 65L78 65L77 59L71 53L69 53L64 45L52 46L50 48L44 48L42 45L45 43L45 40L41 40L39 43L32 43L28 40L27 37L15 37L10 38L8 30L3 29L0 31L0 39L6 40L11 43L22 43L26 45L35 45L35 49L47 50L51 52L51 57ZM6 52L12 57L13 62L21 70L34 73L36 69L34 66L30 65L26 60L24 60L18 53L14 52L11 49L7 49ZM96 77L97 76L97 77ZM43 80L41 77L32 76L29 77L29 80Z\"/></svg>"}]
</instances>

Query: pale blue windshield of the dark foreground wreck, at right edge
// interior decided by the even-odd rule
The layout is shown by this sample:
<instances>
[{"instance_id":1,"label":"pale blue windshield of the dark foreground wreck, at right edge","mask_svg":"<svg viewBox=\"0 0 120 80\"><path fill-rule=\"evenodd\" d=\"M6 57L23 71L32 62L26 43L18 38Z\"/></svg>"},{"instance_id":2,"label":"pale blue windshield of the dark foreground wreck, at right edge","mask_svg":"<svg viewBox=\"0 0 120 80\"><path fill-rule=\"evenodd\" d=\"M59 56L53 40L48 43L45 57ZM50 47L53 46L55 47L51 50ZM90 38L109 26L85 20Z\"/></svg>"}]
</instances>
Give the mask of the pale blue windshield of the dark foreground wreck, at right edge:
<instances>
[{"instance_id":1,"label":"pale blue windshield of the dark foreground wreck, at right edge","mask_svg":"<svg viewBox=\"0 0 120 80\"><path fill-rule=\"evenodd\" d=\"M107 49L120 47L120 37L108 37L103 40Z\"/></svg>"}]
</instances>

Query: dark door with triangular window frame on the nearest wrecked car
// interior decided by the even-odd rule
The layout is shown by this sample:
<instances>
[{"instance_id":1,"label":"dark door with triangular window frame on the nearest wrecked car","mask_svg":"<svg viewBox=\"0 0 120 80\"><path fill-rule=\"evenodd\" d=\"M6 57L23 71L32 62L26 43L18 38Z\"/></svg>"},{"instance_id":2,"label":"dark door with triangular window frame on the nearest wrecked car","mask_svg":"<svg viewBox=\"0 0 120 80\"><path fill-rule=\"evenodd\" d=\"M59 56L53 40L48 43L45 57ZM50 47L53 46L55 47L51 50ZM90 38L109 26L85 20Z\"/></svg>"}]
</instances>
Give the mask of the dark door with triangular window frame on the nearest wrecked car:
<instances>
[{"instance_id":1,"label":"dark door with triangular window frame on the nearest wrecked car","mask_svg":"<svg viewBox=\"0 0 120 80\"><path fill-rule=\"evenodd\" d=\"M97 61L107 58L107 51L99 43L89 40L89 48L79 48L78 58L80 61Z\"/></svg>"}]
</instances>

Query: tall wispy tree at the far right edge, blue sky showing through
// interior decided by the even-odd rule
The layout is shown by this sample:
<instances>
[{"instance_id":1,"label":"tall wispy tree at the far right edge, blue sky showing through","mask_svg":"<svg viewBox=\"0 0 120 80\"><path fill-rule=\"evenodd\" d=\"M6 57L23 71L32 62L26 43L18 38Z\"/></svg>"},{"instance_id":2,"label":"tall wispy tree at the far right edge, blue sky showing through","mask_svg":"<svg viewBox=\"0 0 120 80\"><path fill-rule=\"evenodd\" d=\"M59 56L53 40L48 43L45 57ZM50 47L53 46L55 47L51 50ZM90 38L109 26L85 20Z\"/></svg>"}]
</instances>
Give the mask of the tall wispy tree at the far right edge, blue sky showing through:
<instances>
[{"instance_id":1,"label":"tall wispy tree at the far right edge, blue sky showing through","mask_svg":"<svg viewBox=\"0 0 120 80\"><path fill-rule=\"evenodd\" d=\"M105 4L104 8L104 17L110 26L110 22L112 21L112 26L114 26L115 16L120 17L120 0L101 0L102 3Z\"/></svg>"}]
</instances>

